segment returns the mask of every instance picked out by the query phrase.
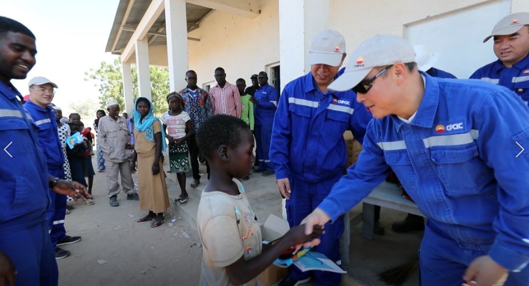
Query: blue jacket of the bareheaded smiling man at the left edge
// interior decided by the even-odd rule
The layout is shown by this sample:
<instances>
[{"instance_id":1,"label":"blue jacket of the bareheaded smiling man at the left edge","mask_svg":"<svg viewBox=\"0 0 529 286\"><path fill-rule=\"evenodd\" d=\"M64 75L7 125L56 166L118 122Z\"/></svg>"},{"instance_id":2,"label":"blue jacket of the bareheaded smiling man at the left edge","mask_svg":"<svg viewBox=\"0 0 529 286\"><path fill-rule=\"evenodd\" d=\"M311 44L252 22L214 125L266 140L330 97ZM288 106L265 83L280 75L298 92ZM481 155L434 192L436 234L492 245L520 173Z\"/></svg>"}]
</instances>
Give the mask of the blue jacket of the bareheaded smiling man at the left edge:
<instances>
[{"instance_id":1,"label":"blue jacket of the bareheaded smiling man at the left edge","mask_svg":"<svg viewBox=\"0 0 529 286\"><path fill-rule=\"evenodd\" d=\"M0 82L0 234L44 221L50 203L38 127L17 95L13 86Z\"/></svg>"}]
</instances>

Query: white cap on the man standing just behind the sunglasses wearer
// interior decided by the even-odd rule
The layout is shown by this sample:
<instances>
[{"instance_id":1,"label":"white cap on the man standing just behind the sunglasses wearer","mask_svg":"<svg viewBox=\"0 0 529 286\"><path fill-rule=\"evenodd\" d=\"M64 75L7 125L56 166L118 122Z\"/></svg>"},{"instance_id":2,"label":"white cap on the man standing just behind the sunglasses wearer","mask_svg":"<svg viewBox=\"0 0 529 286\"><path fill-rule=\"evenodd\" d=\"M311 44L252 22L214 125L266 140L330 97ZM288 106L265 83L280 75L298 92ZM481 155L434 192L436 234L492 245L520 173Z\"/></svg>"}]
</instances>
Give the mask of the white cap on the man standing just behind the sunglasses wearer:
<instances>
[{"instance_id":1,"label":"white cap on the man standing just behind the sunglasses wearer","mask_svg":"<svg viewBox=\"0 0 529 286\"><path fill-rule=\"evenodd\" d=\"M345 39L338 31L325 30L312 40L308 50L308 63L325 64L333 67L340 65L345 53Z\"/></svg>"}]
</instances>

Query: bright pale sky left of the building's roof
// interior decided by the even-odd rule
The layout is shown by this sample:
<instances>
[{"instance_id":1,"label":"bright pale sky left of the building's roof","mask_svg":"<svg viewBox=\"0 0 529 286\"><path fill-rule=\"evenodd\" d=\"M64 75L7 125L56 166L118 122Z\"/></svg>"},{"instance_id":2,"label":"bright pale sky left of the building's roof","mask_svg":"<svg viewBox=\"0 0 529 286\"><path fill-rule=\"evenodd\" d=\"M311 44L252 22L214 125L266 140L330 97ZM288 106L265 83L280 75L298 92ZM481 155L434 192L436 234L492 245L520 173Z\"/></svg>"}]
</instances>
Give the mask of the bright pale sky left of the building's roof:
<instances>
[{"instance_id":1,"label":"bright pale sky left of the building's roof","mask_svg":"<svg viewBox=\"0 0 529 286\"><path fill-rule=\"evenodd\" d=\"M0 0L0 15L26 25L37 38L37 64L26 79L12 83L28 94L28 82L44 76L56 83L53 100L61 108L70 102L98 101L94 82L85 71L116 56L105 53L119 0Z\"/></svg>"}]
</instances>

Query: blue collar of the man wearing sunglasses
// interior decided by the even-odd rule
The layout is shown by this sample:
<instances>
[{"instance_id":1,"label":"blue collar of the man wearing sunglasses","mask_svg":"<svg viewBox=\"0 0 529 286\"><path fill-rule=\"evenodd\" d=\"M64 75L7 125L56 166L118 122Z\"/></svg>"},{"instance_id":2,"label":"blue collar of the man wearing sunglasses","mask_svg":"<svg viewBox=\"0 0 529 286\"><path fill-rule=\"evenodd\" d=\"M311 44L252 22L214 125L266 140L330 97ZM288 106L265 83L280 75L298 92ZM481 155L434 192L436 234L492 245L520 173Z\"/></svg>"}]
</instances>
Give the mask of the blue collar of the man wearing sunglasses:
<instances>
[{"instance_id":1,"label":"blue collar of the man wearing sunglasses","mask_svg":"<svg viewBox=\"0 0 529 286\"><path fill-rule=\"evenodd\" d=\"M431 128L433 127L433 121L435 119L435 114L437 113L437 107L439 106L439 83L437 83L437 79L427 75L423 71L419 71L419 73L424 75L426 79L426 88L424 90L421 104L419 104L417 114L410 124L424 128ZM397 130L405 124L404 121L398 119L397 115L391 115L391 119L395 126L397 126Z\"/></svg>"}]
</instances>

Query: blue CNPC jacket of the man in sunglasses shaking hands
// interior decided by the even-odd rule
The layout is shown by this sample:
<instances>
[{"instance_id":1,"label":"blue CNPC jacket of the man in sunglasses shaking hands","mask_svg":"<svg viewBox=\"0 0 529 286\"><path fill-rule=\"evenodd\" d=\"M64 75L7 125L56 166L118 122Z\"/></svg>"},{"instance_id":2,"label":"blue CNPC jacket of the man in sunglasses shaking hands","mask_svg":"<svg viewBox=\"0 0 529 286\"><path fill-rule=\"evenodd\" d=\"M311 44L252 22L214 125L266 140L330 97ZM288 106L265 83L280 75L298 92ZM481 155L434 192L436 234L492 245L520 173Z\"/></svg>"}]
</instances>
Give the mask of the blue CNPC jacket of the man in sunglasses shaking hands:
<instances>
[{"instance_id":1,"label":"blue CNPC jacket of the man in sunglasses shaking hands","mask_svg":"<svg viewBox=\"0 0 529 286\"><path fill-rule=\"evenodd\" d=\"M389 167L436 229L462 247L490 246L508 270L529 262L529 109L504 87L426 78L415 118L372 120L356 164L320 204L332 220Z\"/></svg>"}]
</instances>

